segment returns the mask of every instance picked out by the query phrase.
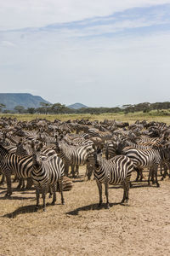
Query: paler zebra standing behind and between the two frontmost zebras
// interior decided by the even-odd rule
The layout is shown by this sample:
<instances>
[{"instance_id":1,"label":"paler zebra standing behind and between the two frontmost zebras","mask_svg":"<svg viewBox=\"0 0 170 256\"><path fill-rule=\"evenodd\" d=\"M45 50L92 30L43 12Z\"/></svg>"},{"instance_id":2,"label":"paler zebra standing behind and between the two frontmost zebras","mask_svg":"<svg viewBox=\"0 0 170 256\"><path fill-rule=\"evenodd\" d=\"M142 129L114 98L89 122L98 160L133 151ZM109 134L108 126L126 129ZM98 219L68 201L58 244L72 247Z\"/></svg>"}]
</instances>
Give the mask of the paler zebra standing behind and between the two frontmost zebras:
<instances>
[{"instance_id":1,"label":"paler zebra standing behind and between the two frontmost zebras","mask_svg":"<svg viewBox=\"0 0 170 256\"><path fill-rule=\"evenodd\" d=\"M65 164L65 175L68 176L71 166L72 176L75 177L74 166L86 164L89 154L94 153L93 144L72 146L65 143L55 143L55 151Z\"/></svg>"}]
</instances>

